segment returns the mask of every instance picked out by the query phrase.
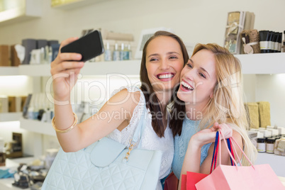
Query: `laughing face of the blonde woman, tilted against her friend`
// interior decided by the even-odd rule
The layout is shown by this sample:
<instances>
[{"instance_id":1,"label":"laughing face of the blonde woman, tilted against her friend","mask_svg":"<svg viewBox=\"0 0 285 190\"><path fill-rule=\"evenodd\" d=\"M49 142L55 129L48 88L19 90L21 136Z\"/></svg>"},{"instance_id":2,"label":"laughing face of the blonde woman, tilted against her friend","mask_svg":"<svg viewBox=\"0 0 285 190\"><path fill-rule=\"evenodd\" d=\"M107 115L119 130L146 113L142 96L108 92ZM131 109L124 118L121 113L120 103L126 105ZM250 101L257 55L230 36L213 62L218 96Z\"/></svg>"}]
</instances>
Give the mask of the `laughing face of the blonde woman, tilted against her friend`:
<instances>
[{"instance_id":1,"label":"laughing face of the blonde woman, tilted against her friend","mask_svg":"<svg viewBox=\"0 0 285 190\"><path fill-rule=\"evenodd\" d=\"M213 52L199 50L181 71L178 98L204 108L216 86L216 62Z\"/></svg>"}]
</instances>

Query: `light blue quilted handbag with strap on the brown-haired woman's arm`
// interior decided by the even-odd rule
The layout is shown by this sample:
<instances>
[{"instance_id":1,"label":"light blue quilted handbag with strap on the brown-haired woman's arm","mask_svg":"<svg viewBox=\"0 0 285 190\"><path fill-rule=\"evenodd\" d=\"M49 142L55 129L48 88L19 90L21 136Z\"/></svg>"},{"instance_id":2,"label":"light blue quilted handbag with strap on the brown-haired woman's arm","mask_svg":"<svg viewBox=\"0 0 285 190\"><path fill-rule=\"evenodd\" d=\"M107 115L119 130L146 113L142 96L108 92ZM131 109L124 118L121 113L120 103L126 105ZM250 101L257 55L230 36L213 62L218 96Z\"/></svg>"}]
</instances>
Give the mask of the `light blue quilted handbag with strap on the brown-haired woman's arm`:
<instances>
[{"instance_id":1,"label":"light blue quilted handbag with strap on the brown-haired woman's arm","mask_svg":"<svg viewBox=\"0 0 285 190\"><path fill-rule=\"evenodd\" d=\"M42 189L156 189L162 151L140 149L145 112L129 147L102 138L77 152L60 148ZM132 150L135 143L138 148Z\"/></svg>"}]
</instances>

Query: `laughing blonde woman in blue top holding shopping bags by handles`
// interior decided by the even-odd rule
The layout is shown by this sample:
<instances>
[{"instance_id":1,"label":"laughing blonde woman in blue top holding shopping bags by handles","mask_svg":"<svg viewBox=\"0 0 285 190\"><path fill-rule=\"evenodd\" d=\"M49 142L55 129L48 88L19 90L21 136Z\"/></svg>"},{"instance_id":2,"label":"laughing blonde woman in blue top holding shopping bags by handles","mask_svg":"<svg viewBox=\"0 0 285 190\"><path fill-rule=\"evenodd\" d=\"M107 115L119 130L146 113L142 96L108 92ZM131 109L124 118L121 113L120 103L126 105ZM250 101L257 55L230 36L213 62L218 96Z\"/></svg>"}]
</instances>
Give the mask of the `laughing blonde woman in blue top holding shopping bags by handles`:
<instances>
[{"instance_id":1,"label":"laughing blonde woman in blue top holding shopping bags by handles","mask_svg":"<svg viewBox=\"0 0 285 190\"><path fill-rule=\"evenodd\" d=\"M196 45L181 71L179 100L172 105L170 128L175 136L172 169L178 179L186 171L210 173L212 143L218 129L225 138L233 136L250 160L255 161L257 150L247 136L241 80L240 62L228 50L215 44ZM222 164L230 164L226 147L221 145ZM242 164L249 163L242 159Z\"/></svg>"}]
</instances>

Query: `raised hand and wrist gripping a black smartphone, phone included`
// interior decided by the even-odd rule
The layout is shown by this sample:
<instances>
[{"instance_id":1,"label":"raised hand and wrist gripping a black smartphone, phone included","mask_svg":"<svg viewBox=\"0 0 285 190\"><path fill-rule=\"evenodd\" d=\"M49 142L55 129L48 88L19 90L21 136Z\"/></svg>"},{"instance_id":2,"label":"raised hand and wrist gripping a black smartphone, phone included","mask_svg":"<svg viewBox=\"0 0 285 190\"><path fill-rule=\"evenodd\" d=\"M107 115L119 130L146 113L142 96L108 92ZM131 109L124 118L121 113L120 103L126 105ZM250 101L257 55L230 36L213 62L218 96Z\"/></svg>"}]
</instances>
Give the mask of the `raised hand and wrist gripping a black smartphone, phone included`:
<instances>
[{"instance_id":1,"label":"raised hand and wrist gripping a black smartphone, phone included","mask_svg":"<svg viewBox=\"0 0 285 190\"><path fill-rule=\"evenodd\" d=\"M104 45L101 33L95 30L82 38L68 38L62 41L60 53L51 63L55 100L69 100L70 91L77 82L77 74L86 60L101 55Z\"/></svg>"}]
</instances>

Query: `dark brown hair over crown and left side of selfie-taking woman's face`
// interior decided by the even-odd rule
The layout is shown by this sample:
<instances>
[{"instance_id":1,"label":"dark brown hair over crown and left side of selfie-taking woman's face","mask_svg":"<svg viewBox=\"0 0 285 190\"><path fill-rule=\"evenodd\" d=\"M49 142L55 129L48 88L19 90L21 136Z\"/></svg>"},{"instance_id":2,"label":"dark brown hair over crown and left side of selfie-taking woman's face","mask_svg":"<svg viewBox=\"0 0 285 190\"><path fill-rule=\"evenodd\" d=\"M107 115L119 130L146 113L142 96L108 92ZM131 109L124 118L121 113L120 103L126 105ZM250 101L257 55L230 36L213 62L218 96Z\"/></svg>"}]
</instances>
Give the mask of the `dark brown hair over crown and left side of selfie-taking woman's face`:
<instances>
[{"instance_id":1,"label":"dark brown hair over crown and left side of selfie-taking woman's face","mask_svg":"<svg viewBox=\"0 0 285 190\"><path fill-rule=\"evenodd\" d=\"M157 31L154 35L152 35L152 37L149 40L147 40L145 46L143 47L143 57L140 65L140 82L142 83L141 89L143 91L143 94L145 95L146 107L150 108L150 113L152 114L152 128L153 130L155 130L155 133L157 133L157 136L162 138L164 137L164 130L165 130L162 122L162 117L156 117L156 113L162 113L162 107L160 104L160 100L157 98L155 91L152 88L152 84L150 84L150 79L148 79L147 68L146 68L147 46L150 43L150 41L159 36L167 36L173 38L174 40L177 40L183 54L184 65L189 60L189 55L183 41L177 35L169 33L167 31Z\"/></svg>"}]
</instances>

